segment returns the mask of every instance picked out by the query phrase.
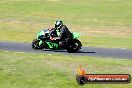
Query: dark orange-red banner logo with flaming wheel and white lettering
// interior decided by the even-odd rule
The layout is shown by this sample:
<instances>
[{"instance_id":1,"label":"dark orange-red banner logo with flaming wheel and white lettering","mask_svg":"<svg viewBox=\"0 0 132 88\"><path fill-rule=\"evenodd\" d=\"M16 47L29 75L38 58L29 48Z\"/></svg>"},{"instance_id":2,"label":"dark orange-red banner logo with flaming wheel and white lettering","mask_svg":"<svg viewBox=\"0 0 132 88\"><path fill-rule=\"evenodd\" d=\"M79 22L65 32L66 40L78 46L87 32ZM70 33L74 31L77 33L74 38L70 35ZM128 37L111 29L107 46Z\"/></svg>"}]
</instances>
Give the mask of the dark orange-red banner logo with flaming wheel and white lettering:
<instances>
[{"instance_id":1,"label":"dark orange-red banner logo with flaming wheel and white lettering","mask_svg":"<svg viewBox=\"0 0 132 88\"><path fill-rule=\"evenodd\" d=\"M131 82L131 76L129 74L87 74L85 69L80 66L76 81L79 85L95 83L127 84Z\"/></svg>"}]
</instances>

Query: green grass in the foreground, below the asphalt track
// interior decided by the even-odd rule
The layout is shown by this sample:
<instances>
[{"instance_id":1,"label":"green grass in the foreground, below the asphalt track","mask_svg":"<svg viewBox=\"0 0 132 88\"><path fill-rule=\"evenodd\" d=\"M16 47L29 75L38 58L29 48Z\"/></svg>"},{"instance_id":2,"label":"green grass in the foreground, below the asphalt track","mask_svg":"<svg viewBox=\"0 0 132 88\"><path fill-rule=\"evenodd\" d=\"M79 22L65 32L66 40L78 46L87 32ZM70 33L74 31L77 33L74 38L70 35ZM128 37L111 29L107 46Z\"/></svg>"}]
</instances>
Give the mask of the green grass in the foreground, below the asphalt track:
<instances>
[{"instance_id":1,"label":"green grass in the foreground, below the asphalt track","mask_svg":"<svg viewBox=\"0 0 132 88\"><path fill-rule=\"evenodd\" d=\"M87 73L132 75L132 62L129 59L0 51L0 88L80 88L75 75L81 64ZM83 86L87 87L131 88L132 84Z\"/></svg>"}]
</instances>

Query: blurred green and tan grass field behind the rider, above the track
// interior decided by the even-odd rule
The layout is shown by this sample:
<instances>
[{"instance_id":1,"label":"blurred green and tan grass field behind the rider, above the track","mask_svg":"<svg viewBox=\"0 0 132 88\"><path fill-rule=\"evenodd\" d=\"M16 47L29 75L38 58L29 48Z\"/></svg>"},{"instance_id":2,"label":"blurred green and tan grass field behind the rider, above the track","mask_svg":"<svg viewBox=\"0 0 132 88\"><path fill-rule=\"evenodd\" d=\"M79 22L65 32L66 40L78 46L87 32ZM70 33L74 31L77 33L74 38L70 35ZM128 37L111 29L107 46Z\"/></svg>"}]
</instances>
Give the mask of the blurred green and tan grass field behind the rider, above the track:
<instances>
[{"instance_id":1,"label":"blurred green and tan grass field behind the rider, above the track","mask_svg":"<svg viewBox=\"0 0 132 88\"><path fill-rule=\"evenodd\" d=\"M84 46L132 48L131 0L1 1L0 41L31 42L62 19ZM114 41L114 42L113 42Z\"/></svg>"}]
</instances>

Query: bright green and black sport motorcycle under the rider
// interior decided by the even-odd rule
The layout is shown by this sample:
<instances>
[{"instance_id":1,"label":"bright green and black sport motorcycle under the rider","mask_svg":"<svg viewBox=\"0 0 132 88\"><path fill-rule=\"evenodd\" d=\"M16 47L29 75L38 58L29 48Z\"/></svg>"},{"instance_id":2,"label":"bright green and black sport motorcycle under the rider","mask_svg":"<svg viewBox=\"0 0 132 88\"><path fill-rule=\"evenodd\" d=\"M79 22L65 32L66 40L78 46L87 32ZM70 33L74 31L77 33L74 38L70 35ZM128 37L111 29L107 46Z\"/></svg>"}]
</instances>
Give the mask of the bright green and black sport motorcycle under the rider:
<instances>
[{"instance_id":1,"label":"bright green and black sport motorcycle under the rider","mask_svg":"<svg viewBox=\"0 0 132 88\"><path fill-rule=\"evenodd\" d=\"M59 32L56 31L56 34L59 35ZM81 42L78 40L78 38L80 37L80 34L76 32L73 32L72 38L68 41L65 41L62 46L60 46L59 40L55 40L55 41L50 40L49 33L44 35L42 39L39 38L41 35L43 35L42 31L37 34L36 39L34 39L32 42L32 48L34 50L43 50L43 49L62 50L64 49L64 50L67 50L68 53L75 53L75 52L78 52L82 47Z\"/></svg>"}]
</instances>

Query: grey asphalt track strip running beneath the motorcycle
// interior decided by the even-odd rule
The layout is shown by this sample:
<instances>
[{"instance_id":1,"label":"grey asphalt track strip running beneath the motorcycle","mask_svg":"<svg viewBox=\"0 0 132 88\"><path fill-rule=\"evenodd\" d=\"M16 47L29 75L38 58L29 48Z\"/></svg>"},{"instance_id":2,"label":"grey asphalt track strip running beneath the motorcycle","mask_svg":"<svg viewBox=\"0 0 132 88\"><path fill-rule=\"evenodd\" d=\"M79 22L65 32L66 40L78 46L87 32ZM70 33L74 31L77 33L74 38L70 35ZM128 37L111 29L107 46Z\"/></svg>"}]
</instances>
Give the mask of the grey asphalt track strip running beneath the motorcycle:
<instances>
[{"instance_id":1,"label":"grey asphalt track strip running beneath the motorcycle","mask_svg":"<svg viewBox=\"0 0 132 88\"><path fill-rule=\"evenodd\" d=\"M132 49L82 47L78 53L67 53L66 50L33 50L31 43L0 42L0 50L34 53L62 53L67 55L100 56L132 59Z\"/></svg>"}]
</instances>

